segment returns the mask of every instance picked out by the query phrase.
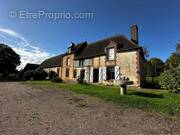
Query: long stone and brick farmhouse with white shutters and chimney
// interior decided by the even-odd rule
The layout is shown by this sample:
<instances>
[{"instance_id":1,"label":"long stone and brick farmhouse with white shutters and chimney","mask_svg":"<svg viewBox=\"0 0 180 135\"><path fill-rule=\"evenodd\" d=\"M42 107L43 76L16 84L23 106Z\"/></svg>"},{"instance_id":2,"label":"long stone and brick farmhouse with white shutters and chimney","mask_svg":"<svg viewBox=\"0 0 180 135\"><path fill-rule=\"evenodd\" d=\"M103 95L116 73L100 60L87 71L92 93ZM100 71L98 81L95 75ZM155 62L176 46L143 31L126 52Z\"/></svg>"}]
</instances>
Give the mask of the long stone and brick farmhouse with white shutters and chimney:
<instances>
[{"instance_id":1,"label":"long stone and brick farmhouse with white shutters and chimney","mask_svg":"<svg viewBox=\"0 0 180 135\"><path fill-rule=\"evenodd\" d=\"M138 27L131 26L131 39L123 35L94 43L72 43L66 53L49 58L40 65L46 72L55 71L64 81L79 77L87 83L119 84L128 77L141 87L144 80L144 54L138 42Z\"/></svg>"}]
</instances>

